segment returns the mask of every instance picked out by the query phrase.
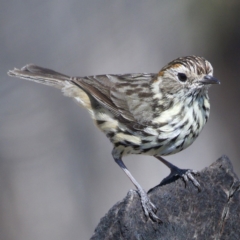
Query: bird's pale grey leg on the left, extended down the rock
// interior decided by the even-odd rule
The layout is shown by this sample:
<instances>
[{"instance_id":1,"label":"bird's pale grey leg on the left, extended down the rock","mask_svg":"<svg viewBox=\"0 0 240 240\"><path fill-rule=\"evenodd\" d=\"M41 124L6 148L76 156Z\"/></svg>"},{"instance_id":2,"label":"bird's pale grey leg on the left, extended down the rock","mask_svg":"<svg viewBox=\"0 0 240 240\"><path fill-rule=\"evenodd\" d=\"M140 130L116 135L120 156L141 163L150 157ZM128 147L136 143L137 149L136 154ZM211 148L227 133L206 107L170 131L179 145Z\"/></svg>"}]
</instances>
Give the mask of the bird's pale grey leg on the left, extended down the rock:
<instances>
[{"instance_id":1,"label":"bird's pale grey leg on the left, extended down the rock","mask_svg":"<svg viewBox=\"0 0 240 240\"><path fill-rule=\"evenodd\" d=\"M137 191L138 191L138 194L140 195L142 207L143 207L146 217L147 218L151 217L154 221L161 222L159 217L155 214L157 211L157 208L150 201L147 193L144 191L144 189L140 186L140 184L136 181L136 179L133 177L133 175L127 169L127 167L123 163L122 159L114 157L114 160L116 161L118 166L127 174L127 176L130 178L130 180L132 181L134 186L137 188Z\"/></svg>"}]
</instances>

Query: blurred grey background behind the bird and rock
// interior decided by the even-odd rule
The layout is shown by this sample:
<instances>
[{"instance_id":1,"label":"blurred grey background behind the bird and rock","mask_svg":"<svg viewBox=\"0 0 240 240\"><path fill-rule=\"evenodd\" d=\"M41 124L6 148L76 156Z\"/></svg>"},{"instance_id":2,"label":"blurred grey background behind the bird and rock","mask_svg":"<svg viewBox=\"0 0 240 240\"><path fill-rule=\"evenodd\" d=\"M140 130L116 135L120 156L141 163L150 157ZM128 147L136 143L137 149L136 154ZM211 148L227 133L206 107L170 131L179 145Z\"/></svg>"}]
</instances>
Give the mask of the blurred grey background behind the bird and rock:
<instances>
[{"instance_id":1,"label":"blurred grey background behind the bird and rock","mask_svg":"<svg viewBox=\"0 0 240 240\"><path fill-rule=\"evenodd\" d=\"M2 0L0 239L89 239L133 188L85 109L57 89L7 76L27 63L85 76L158 72L177 57L204 56L221 80L210 89L209 122L166 159L201 170L226 154L239 175L239 12L239 1ZM153 157L124 160L146 190L169 173Z\"/></svg>"}]
</instances>

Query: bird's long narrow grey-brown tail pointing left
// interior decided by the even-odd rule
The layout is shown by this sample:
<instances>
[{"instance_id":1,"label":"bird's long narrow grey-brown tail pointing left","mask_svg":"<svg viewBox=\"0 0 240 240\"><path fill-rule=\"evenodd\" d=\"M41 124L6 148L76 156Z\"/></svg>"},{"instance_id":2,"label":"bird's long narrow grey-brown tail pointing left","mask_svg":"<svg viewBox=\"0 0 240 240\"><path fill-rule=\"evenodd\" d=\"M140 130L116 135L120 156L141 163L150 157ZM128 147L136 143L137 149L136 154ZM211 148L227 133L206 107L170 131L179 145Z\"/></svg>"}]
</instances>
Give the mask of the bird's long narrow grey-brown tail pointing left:
<instances>
[{"instance_id":1,"label":"bird's long narrow grey-brown tail pointing left","mask_svg":"<svg viewBox=\"0 0 240 240\"><path fill-rule=\"evenodd\" d=\"M29 81L42 83L62 89L65 81L70 81L70 77L51 69L38 67L33 64L27 64L21 69L14 68L8 72L9 76L23 78Z\"/></svg>"}]
</instances>

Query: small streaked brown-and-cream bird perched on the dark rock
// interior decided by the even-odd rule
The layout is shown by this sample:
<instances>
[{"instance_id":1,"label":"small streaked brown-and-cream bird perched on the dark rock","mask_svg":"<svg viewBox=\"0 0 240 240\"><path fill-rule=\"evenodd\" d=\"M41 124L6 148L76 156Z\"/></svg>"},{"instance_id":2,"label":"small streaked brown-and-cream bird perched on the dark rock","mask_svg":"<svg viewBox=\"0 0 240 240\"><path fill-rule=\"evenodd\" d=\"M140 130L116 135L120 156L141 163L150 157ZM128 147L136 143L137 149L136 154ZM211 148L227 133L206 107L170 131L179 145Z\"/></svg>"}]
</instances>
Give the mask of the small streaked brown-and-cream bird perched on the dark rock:
<instances>
[{"instance_id":1,"label":"small streaked brown-and-cream bird perched on the dark rock","mask_svg":"<svg viewBox=\"0 0 240 240\"><path fill-rule=\"evenodd\" d=\"M163 156L190 146L208 121L208 90L220 81L205 58L179 57L158 73L70 77L27 64L8 75L59 88L88 110L113 144L112 157L136 187L147 218L161 222L156 206L124 164L126 155L153 156L169 167L166 179L179 176L200 188L197 171L180 169Z\"/></svg>"}]
</instances>

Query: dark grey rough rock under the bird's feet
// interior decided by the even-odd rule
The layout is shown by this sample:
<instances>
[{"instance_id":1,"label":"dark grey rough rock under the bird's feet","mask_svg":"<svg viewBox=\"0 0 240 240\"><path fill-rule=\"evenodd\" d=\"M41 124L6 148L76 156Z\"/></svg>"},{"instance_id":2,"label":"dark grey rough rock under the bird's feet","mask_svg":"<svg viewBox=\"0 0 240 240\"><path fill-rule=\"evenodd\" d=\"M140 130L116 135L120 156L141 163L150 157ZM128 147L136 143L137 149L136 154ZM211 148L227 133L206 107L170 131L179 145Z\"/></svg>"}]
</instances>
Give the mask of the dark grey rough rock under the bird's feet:
<instances>
[{"instance_id":1,"label":"dark grey rough rock under the bird's feet","mask_svg":"<svg viewBox=\"0 0 240 240\"><path fill-rule=\"evenodd\" d=\"M91 240L240 239L240 182L222 156L196 179L201 191L182 179L149 192L162 223L147 219L138 193L130 190L103 217Z\"/></svg>"}]
</instances>

